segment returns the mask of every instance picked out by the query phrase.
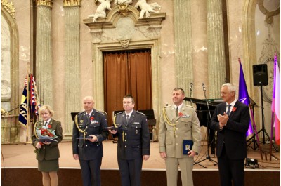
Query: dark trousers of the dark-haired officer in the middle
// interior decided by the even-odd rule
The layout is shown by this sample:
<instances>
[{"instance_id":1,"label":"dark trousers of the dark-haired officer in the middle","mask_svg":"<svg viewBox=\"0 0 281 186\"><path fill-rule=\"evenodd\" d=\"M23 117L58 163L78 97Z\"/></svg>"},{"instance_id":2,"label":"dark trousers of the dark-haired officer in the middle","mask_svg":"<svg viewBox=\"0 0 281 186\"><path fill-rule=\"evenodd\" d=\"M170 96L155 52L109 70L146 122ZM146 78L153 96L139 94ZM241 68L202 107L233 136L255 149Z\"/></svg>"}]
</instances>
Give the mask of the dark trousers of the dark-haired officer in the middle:
<instances>
[{"instance_id":1,"label":"dark trousers of the dark-haired officer in the middle","mask_svg":"<svg viewBox=\"0 0 281 186\"><path fill-rule=\"evenodd\" d=\"M141 186L141 167L143 159L119 159L118 166L121 175L122 186Z\"/></svg>"}]
</instances>

